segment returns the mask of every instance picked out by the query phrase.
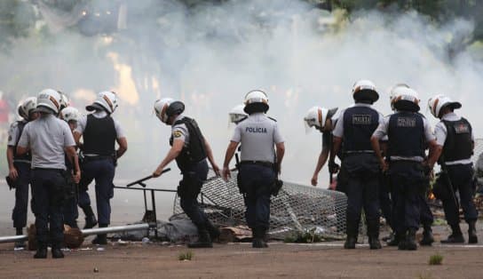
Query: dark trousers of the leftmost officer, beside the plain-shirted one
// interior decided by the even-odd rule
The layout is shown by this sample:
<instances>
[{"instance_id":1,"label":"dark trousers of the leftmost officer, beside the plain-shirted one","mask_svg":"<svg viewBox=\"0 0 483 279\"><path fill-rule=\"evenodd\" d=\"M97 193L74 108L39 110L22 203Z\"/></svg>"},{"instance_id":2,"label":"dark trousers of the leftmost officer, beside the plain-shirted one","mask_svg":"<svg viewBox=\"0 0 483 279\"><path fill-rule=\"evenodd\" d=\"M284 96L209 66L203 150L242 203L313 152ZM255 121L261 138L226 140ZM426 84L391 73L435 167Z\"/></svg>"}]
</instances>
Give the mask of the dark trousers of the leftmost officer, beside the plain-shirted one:
<instances>
[{"instance_id":1,"label":"dark trousers of the leftmost officer, beside the plain-shirted one","mask_svg":"<svg viewBox=\"0 0 483 279\"><path fill-rule=\"evenodd\" d=\"M12 211L13 227L27 226L28 184L30 184L30 163L13 163L19 177L15 180L15 206Z\"/></svg>"}]
</instances>

